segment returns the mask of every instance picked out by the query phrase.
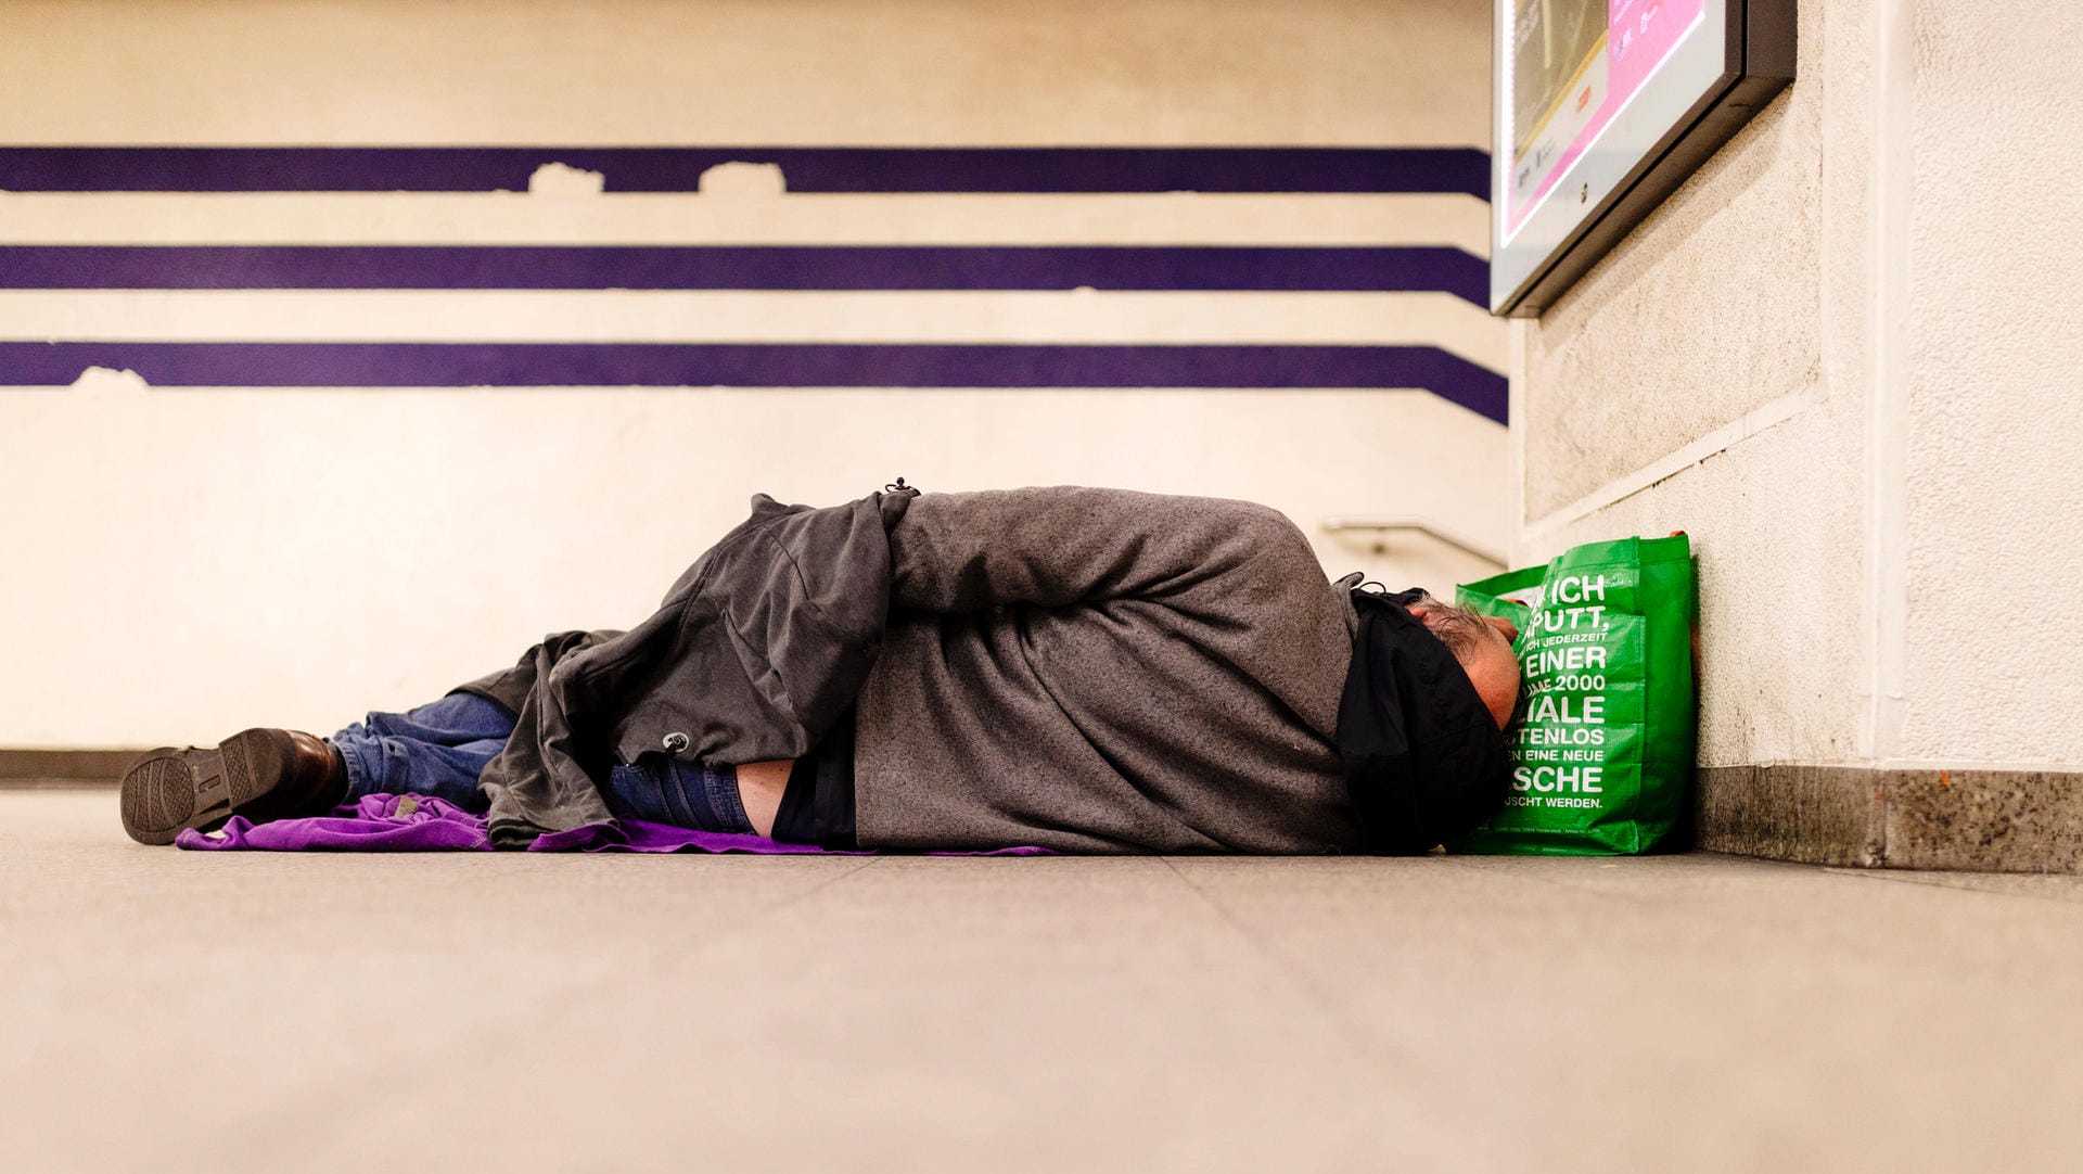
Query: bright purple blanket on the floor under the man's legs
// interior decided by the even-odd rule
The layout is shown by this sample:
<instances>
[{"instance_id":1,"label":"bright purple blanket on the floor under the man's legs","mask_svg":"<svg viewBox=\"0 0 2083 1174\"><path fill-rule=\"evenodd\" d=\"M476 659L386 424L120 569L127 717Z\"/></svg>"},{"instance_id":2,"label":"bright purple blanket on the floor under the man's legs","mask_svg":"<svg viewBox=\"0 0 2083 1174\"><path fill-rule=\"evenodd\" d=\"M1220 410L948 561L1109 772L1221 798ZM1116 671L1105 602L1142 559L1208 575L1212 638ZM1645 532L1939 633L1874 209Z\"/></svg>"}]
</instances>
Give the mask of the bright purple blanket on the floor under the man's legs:
<instances>
[{"instance_id":1,"label":"bright purple blanket on the floor under the man's legs","mask_svg":"<svg viewBox=\"0 0 2083 1174\"><path fill-rule=\"evenodd\" d=\"M231 816L225 826L183 831L173 841L200 851L492 851L485 818L429 795L365 795L333 808L331 816L273 820L265 824ZM746 851L754 856L877 856L839 851L806 843L781 843L762 835L704 833L673 824L617 820L552 833L529 851ZM1054 856L1046 847L1000 847L996 851L933 851L927 856Z\"/></svg>"}]
</instances>

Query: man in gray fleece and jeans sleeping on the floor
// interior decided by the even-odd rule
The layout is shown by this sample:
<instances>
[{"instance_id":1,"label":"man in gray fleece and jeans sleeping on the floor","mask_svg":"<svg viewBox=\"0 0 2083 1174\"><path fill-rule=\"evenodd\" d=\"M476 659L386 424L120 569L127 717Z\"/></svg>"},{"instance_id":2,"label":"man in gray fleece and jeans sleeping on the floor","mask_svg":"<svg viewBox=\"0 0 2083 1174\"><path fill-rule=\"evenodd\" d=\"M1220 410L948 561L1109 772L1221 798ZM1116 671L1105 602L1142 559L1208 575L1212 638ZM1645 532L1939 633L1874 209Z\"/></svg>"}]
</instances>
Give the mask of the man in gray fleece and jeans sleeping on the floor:
<instances>
[{"instance_id":1,"label":"man in gray fleece and jeans sleeping on the floor","mask_svg":"<svg viewBox=\"0 0 2083 1174\"><path fill-rule=\"evenodd\" d=\"M1512 631L1329 583L1250 502L1121 489L754 497L660 610L329 739L156 749L123 828L373 793L496 847L606 820L892 851L1425 851L1494 814Z\"/></svg>"}]
</instances>

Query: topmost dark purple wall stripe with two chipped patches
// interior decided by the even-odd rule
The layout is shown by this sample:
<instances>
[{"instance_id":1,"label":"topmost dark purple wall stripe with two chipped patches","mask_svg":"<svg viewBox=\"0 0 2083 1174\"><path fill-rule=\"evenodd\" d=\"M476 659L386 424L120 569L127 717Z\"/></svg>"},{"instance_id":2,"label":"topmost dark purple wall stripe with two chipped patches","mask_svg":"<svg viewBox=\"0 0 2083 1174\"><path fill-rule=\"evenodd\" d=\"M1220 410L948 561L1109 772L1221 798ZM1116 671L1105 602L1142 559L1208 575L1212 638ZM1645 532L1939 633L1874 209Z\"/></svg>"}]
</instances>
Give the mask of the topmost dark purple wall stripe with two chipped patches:
<instances>
[{"instance_id":1,"label":"topmost dark purple wall stripe with two chipped patches","mask_svg":"<svg viewBox=\"0 0 2083 1174\"><path fill-rule=\"evenodd\" d=\"M525 192L544 162L608 192L694 192L719 162L775 162L789 192L1458 192L1477 148L0 148L4 192Z\"/></svg>"}]
</instances>

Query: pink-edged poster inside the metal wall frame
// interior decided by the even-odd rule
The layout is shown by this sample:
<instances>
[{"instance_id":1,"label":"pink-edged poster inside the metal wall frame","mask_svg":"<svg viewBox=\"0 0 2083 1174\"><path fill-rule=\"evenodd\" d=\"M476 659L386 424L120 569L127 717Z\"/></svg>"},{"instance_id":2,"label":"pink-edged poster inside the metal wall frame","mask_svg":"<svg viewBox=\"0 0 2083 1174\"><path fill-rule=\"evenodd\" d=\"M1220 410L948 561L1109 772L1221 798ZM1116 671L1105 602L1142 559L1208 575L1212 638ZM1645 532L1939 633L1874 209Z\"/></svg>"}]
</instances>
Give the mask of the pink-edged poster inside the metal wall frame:
<instances>
[{"instance_id":1,"label":"pink-edged poster inside the metal wall frame","mask_svg":"<svg viewBox=\"0 0 2083 1174\"><path fill-rule=\"evenodd\" d=\"M1704 12L1706 0L1512 0L1512 229Z\"/></svg>"}]
</instances>

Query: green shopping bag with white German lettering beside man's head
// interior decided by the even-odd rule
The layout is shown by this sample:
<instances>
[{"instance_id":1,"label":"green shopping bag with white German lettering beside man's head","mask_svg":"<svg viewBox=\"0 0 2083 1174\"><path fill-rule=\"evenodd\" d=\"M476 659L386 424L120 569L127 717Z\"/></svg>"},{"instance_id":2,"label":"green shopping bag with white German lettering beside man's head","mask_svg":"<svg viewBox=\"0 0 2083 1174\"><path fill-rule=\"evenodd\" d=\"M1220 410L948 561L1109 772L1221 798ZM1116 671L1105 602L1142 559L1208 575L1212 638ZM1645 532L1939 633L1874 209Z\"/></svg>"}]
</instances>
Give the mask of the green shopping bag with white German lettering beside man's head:
<instances>
[{"instance_id":1,"label":"green shopping bag with white German lettering beside man's head","mask_svg":"<svg viewBox=\"0 0 2083 1174\"><path fill-rule=\"evenodd\" d=\"M1573 547L1456 589L1519 624L1527 718L1504 810L1454 851L1610 856L1656 847L1685 806L1698 737L1691 541Z\"/></svg>"}]
</instances>

